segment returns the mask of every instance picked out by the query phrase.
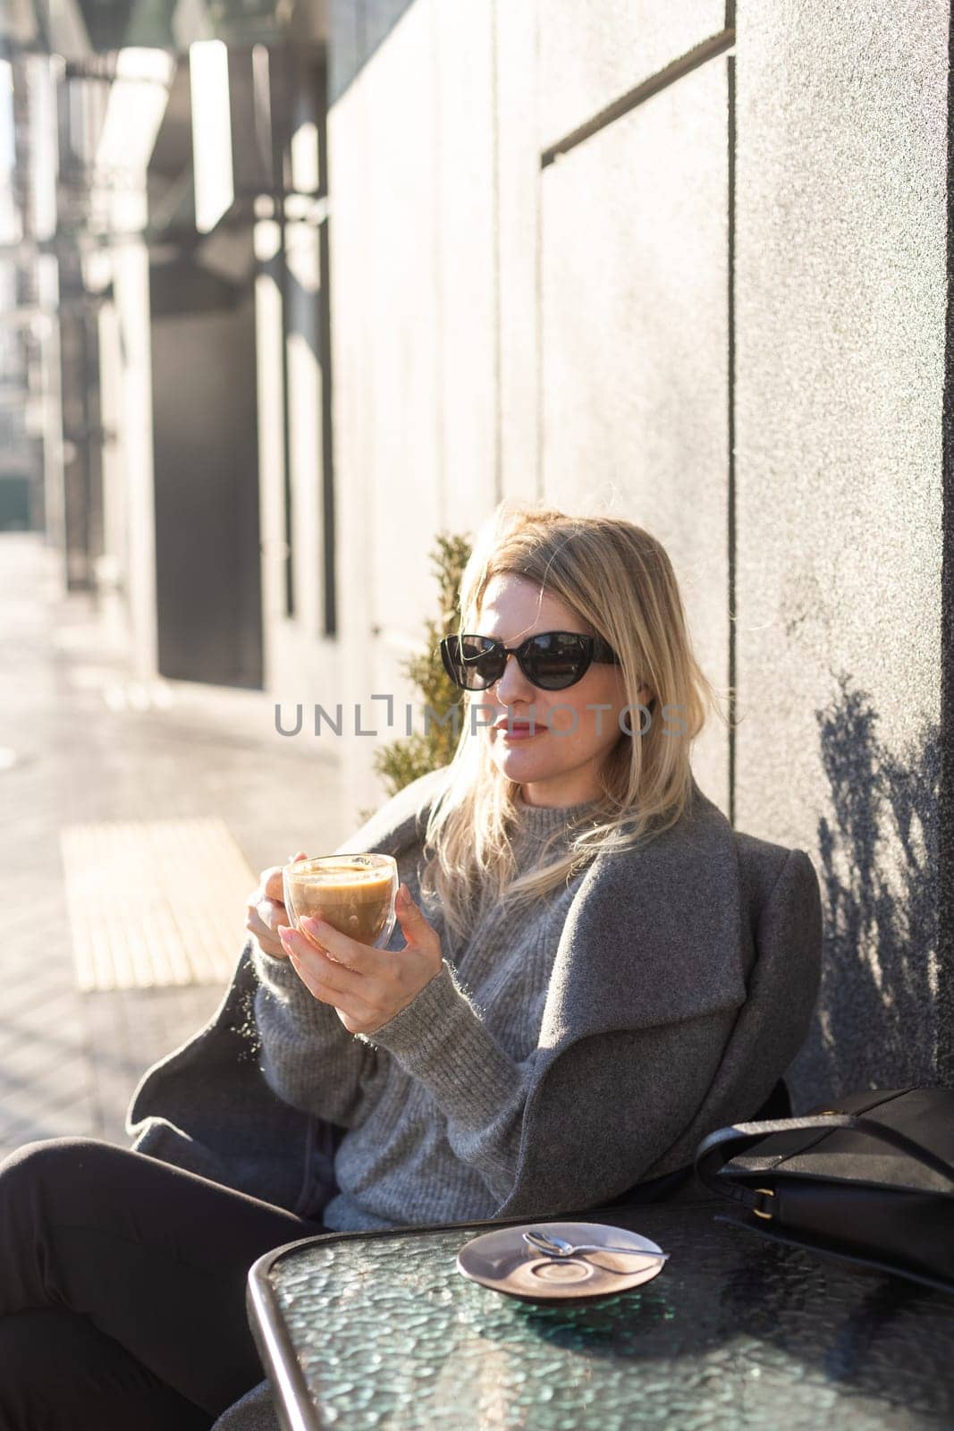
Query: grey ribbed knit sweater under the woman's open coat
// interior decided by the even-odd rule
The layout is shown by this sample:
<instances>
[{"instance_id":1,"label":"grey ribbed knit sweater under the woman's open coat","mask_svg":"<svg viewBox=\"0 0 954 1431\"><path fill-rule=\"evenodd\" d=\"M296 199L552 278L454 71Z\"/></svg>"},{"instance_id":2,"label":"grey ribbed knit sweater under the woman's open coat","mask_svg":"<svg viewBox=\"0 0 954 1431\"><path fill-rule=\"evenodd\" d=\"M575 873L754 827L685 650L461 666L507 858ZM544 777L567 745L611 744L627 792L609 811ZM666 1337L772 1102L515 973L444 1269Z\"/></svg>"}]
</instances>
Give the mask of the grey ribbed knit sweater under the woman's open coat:
<instances>
[{"instance_id":1,"label":"grey ribbed knit sweater under the woman's open coat","mask_svg":"<svg viewBox=\"0 0 954 1431\"><path fill-rule=\"evenodd\" d=\"M519 871L541 863L552 831L565 843L568 820L589 809L589 801L556 810L519 803L511 836ZM545 861L554 857L551 847ZM398 863L422 903L421 844ZM456 944L439 909L422 903L441 934L441 972L369 1036L348 1033L287 960L256 946L263 1073L286 1102L348 1129L326 1226L482 1219L506 1198L554 956L584 874L516 916L491 907ZM403 944L398 924L388 947Z\"/></svg>"}]
</instances>

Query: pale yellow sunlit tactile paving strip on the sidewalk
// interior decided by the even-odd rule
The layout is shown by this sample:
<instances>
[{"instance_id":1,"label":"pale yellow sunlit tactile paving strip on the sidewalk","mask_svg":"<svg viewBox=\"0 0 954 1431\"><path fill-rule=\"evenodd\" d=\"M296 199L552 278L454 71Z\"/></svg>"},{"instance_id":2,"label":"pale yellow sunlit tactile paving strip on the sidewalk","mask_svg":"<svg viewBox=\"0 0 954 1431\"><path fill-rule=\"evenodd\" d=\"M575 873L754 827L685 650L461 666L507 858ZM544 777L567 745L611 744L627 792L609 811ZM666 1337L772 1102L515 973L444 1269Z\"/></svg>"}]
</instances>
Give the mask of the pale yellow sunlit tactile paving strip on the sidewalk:
<instances>
[{"instance_id":1,"label":"pale yellow sunlit tactile paving strip on the sidewalk","mask_svg":"<svg viewBox=\"0 0 954 1431\"><path fill-rule=\"evenodd\" d=\"M60 847L83 992L229 979L256 876L223 820L72 824Z\"/></svg>"}]
</instances>

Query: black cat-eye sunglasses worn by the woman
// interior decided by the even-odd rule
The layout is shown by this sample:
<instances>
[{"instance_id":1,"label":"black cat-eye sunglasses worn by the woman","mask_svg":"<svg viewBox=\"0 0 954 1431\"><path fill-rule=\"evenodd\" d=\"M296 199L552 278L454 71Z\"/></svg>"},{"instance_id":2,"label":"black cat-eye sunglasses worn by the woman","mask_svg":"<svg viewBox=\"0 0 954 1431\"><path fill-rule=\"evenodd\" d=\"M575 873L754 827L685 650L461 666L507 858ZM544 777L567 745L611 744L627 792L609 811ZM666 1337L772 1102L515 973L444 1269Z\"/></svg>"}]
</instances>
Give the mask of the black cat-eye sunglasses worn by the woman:
<instances>
[{"instance_id":1,"label":"black cat-eye sunglasses worn by the woman","mask_svg":"<svg viewBox=\"0 0 954 1431\"><path fill-rule=\"evenodd\" d=\"M619 665L619 658L602 637L578 631L538 631L521 645L503 645L489 635L445 635L441 660L455 685L485 691L503 675L509 653L528 681L542 691L564 691L589 670L591 661Z\"/></svg>"}]
</instances>

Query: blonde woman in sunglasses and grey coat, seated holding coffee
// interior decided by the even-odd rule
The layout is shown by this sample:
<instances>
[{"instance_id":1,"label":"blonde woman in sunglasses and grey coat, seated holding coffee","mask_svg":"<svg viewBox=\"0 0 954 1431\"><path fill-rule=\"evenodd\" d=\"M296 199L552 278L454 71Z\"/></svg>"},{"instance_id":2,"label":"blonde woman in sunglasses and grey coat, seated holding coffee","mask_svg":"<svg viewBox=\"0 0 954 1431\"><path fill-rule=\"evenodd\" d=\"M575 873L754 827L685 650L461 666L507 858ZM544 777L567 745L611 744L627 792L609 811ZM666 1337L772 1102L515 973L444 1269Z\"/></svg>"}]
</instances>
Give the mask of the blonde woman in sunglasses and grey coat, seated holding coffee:
<instances>
[{"instance_id":1,"label":"blonde woman in sunglasses and grey coat, seated holding coffee","mask_svg":"<svg viewBox=\"0 0 954 1431\"><path fill-rule=\"evenodd\" d=\"M461 610L455 757L342 847L398 859L390 947L290 927L263 871L222 1009L140 1083L136 1149L54 1139L0 1169L1 1431L77 1404L209 1427L260 1381L262 1252L652 1195L794 1058L817 879L692 778L712 691L662 547L501 507Z\"/></svg>"}]
</instances>

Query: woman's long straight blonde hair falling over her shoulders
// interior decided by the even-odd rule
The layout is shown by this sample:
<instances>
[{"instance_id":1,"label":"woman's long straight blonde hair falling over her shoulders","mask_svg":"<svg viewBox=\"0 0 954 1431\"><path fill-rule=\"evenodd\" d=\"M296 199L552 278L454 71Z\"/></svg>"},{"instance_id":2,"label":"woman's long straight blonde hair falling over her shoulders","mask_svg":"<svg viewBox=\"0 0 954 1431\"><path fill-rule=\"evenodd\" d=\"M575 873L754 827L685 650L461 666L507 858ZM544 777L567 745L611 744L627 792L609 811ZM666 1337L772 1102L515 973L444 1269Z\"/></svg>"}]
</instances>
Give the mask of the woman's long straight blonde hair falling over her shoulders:
<instances>
[{"instance_id":1,"label":"woman's long straight blonde hair falling over her shoulders","mask_svg":"<svg viewBox=\"0 0 954 1431\"><path fill-rule=\"evenodd\" d=\"M462 693L461 737L428 817L429 859L421 880L425 907L442 910L453 937L465 933L478 909L502 902L516 907L566 883L596 854L635 849L675 824L692 796L689 747L707 708L725 720L692 653L669 557L642 527L619 517L568 517L501 502L479 529L461 578L458 634L479 630L483 594L498 575L535 582L604 637L619 658L626 703L635 708L648 687L652 718L639 737L621 731L605 758L595 819L585 811L569 826L569 837L555 830L538 867L516 877L509 831L519 784L501 774L486 741L471 734L471 701L479 704L482 693ZM679 734L667 717L674 707ZM546 863L551 844L558 846L556 857Z\"/></svg>"}]
</instances>

